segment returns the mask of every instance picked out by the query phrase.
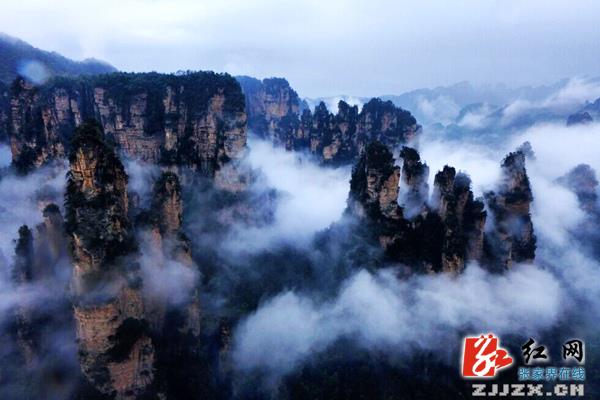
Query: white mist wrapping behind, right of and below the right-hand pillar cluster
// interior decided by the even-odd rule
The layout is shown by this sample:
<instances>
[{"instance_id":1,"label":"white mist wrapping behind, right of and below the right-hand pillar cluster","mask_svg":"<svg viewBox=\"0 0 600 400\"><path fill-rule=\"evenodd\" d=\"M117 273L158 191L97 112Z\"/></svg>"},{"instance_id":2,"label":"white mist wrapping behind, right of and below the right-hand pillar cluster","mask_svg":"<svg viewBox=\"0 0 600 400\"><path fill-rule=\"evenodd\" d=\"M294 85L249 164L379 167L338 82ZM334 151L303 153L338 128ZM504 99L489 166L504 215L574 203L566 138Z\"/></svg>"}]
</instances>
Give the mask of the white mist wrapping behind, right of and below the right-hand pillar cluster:
<instances>
[{"instance_id":1,"label":"white mist wrapping behind, right of and below the right-hand pillar cluster","mask_svg":"<svg viewBox=\"0 0 600 400\"><path fill-rule=\"evenodd\" d=\"M581 163L600 169L600 125L534 126L504 146L425 135L419 146L421 159L431 169L431 187L435 173L450 165L470 175L474 193L480 196L494 188L504 156L525 141L534 151L527 171L538 237L535 263L515 265L503 275L470 264L457 277L438 274L408 280L398 279L400 266L388 265L378 271L355 271L333 298L283 290L263 299L237 326L235 364L245 373L265 373L273 385L341 339L397 358L417 350L444 353L448 343L453 346L467 334L536 335L565 318L588 321L584 325L590 326L590 316L600 312L600 265L573 236L586 216L574 193L556 179ZM326 271L328 265L318 268Z\"/></svg>"}]
</instances>

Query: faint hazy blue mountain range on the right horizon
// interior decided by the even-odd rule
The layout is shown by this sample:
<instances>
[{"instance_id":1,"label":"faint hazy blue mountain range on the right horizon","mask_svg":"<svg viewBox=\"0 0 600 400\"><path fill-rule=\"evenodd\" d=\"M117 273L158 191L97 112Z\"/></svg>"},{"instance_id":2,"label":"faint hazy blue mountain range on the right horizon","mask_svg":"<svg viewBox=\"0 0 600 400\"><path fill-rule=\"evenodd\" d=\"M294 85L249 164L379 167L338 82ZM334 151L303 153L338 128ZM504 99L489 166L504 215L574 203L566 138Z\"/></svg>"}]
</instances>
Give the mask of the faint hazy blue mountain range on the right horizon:
<instances>
[{"instance_id":1,"label":"faint hazy blue mountain range on the right horizon","mask_svg":"<svg viewBox=\"0 0 600 400\"><path fill-rule=\"evenodd\" d=\"M460 82L379 97L409 110L426 133L490 140L534 124L563 123L570 116L569 124L597 119L600 78L563 79L551 85L518 88ZM369 98L339 95L305 99L311 108L323 102L333 110L340 100L361 107Z\"/></svg>"}]
</instances>

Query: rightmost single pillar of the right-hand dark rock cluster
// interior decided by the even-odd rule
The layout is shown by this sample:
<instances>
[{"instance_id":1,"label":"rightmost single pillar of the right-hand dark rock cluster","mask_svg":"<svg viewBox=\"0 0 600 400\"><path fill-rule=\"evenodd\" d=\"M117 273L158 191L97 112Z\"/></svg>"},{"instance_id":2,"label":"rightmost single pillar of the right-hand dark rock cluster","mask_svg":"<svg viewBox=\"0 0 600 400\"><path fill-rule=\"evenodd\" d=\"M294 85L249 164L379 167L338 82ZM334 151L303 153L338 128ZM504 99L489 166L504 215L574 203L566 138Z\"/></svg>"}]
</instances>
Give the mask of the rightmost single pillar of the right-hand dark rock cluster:
<instances>
[{"instance_id":1,"label":"rightmost single pillar of the right-hand dark rock cluster","mask_svg":"<svg viewBox=\"0 0 600 400\"><path fill-rule=\"evenodd\" d=\"M502 175L495 192L485 194L493 218L486 232L485 251L494 270L505 270L535 258L536 237L531 222L533 194L525 169L525 154L518 150L502 161Z\"/></svg>"}]
</instances>

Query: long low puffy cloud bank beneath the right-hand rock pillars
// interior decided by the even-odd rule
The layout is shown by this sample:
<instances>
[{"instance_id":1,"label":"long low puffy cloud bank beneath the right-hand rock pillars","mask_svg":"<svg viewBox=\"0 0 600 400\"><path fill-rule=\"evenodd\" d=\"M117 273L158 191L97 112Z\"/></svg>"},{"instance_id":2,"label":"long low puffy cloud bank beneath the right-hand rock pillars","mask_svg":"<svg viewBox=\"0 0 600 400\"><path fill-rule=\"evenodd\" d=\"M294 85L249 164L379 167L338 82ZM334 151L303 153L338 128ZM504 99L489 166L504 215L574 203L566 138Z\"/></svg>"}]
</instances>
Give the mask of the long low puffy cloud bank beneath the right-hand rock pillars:
<instances>
[{"instance_id":1,"label":"long low puffy cloud bank beneath the right-hand rock pillars","mask_svg":"<svg viewBox=\"0 0 600 400\"><path fill-rule=\"evenodd\" d=\"M399 355L412 348L443 353L465 331L533 334L557 322L563 295L553 275L533 265L505 275L471 265L456 278L405 281L393 270L361 270L331 301L294 292L266 301L237 328L234 365L282 376L342 337Z\"/></svg>"}]
</instances>

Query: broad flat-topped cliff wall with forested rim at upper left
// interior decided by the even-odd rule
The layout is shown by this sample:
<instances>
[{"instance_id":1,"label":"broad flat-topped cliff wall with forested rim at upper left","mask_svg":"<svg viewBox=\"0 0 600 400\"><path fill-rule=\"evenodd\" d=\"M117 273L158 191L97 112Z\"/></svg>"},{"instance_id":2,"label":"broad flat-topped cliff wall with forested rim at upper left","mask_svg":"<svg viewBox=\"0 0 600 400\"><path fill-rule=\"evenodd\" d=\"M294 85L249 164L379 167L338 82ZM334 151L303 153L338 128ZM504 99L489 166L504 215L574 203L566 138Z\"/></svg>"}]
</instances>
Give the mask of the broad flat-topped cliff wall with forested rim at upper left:
<instances>
[{"instance_id":1,"label":"broad flat-topped cliff wall with forested rim at upper left","mask_svg":"<svg viewBox=\"0 0 600 400\"><path fill-rule=\"evenodd\" d=\"M206 176L246 145L244 98L227 75L115 73L39 87L19 79L11 92L11 149L23 171L64 157L73 128L90 118L125 154Z\"/></svg>"}]
</instances>

